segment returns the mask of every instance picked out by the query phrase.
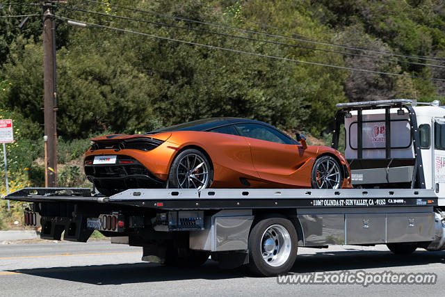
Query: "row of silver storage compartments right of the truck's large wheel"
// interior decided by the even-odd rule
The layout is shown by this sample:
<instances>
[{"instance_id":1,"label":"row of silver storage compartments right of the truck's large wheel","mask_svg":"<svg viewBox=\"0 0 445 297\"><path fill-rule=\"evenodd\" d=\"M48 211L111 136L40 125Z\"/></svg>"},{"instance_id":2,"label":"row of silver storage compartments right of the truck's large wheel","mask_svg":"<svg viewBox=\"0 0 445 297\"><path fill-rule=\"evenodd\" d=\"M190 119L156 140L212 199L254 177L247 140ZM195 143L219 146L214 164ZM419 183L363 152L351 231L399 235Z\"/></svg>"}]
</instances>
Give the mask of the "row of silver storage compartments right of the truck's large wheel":
<instances>
[{"instance_id":1,"label":"row of silver storage compartments right of the truck's large wheel","mask_svg":"<svg viewBox=\"0 0 445 297\"><path fill-rule=\"evenodd\" d=\"M435 239L435 214L300 214L304 246L382 244ZM300 243L303 246L302 243Z\"/></svg>"}]
</instances>

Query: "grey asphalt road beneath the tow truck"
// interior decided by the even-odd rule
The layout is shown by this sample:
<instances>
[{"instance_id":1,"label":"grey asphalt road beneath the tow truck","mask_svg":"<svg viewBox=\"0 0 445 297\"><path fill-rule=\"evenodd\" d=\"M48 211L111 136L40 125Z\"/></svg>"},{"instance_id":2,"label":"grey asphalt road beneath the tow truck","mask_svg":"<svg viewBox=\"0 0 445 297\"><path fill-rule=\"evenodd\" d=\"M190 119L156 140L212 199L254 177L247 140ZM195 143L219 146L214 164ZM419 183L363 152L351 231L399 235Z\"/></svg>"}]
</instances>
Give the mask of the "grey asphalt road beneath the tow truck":
<instances>
[{"instance_id":1,"label":"grey asphalt road beneath the tow truck","mask_svg":"<svg viewBox=\"0 0 445 297\"><path fill-rule=\"evenodd\" d=\"M396 256L385 248L300 248L291 273L363 270L369 273L437 273L436 284L277 284L241 269L170 268L141 262L141 248L89 243L0 245L1 296L443 296L445 252L418 250Z\"/></svg>"}]
</instances>

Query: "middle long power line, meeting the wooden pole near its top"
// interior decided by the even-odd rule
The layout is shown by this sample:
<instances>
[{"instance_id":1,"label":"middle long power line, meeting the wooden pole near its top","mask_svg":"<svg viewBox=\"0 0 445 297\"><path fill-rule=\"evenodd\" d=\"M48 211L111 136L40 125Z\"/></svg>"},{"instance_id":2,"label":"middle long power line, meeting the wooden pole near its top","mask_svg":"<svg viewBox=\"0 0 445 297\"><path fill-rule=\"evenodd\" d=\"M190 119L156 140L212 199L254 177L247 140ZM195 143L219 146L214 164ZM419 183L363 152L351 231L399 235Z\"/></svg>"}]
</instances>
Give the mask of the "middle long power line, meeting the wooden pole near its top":
<instances>
[{"instance_id":1,"label":"middle long power line, meeting the wooden pole near its top","mask_svg":"<svg viewBox=\"0 0 445 297\"><path fill-rule=\"evenodd\" d=\"M67 7L67 6L57 6L57 7L58 8L63 8L63 9L67 9L67 10L79 11L81 13L89 13L89 14L92 14L92 15L102 15L104 17L113 17L113 18L118 18L118 19L126 19L126 20L130 20L130 21L143 22L143 23L154 24L154 25L158 25L158 26L168 26L170 28L184 29L184 30L195 31L195 32L200 32L200 33L207 33L207 34L213 34L213 35L220 35L220 36L225 36L225 37L229 37L229 38L238 38L238 39L243 39L243 40L265 42L265 43L269 43L269 44L273 44L273 45L283 45L283 46L286 46L286 47L293 47L293 48L312 49L312 50L315 50L315 51L325 51L325 52L329 52L329 53L333 53L333 54L342 54L342 55L348 55L348 56L359 56L359 57L363 57L363 58L371 58L371 59L382 60L382 61L391 61L391 62L397 62L397 63L407 63L407 64L413 64L413 65L422 65L422 66L445 68L445 66L442 66L442 65L434 65L434 64L419 63L419 62L412 62L412 61L403 61L403 60L392 59L392 58L382 58L382 57L376 57L376 56L354 54L354 53L349 53L349 52L346 52L346 51L333 51L331 49L318 49L316 47L306 47L304 45L291 45L289 43L284 43L284 42L277 42L277 41L271 41L271 40L250 38L250 37L245 37L245 36L231 35L231 34L227 34L227 33L213 32L213 31L205 31L205 30L201 30L201 29L195 29L195 28L184 27L184 26L177 26L177 25L172 25L172 24L165 24L165 23L161 23L161 22L152 22L152 21L148 21L146 19L136 19L136 18L133 18L133 17L124 17L124 16L121 16L121 15L110 15L108 13L99 13L97 11L84 10L84 9L81 9L81 8L72 8L72 7Z\"/></svg>"}]
</instances>

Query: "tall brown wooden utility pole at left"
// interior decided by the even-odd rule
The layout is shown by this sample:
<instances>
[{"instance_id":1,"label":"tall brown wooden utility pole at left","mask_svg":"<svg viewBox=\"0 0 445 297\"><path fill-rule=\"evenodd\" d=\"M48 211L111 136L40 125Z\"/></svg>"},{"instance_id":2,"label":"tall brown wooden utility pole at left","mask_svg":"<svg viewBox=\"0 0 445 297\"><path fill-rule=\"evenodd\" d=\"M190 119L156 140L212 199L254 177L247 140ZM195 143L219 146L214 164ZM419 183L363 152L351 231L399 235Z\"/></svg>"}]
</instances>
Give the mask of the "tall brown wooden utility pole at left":
<instances>
[{"instance_id":1,"label":"tall brown wooden utility pole at left","mask_svg":"<svg viewBox=\"0 0 445 297\"><path fill-rule=\"evenodd\" d=\"M43 6L43 86L44 86L44 135L48 136L47 186L57 186L57 85L56 85L56 19L53 3L44 1Z\"/></svg>"}]
</instances>

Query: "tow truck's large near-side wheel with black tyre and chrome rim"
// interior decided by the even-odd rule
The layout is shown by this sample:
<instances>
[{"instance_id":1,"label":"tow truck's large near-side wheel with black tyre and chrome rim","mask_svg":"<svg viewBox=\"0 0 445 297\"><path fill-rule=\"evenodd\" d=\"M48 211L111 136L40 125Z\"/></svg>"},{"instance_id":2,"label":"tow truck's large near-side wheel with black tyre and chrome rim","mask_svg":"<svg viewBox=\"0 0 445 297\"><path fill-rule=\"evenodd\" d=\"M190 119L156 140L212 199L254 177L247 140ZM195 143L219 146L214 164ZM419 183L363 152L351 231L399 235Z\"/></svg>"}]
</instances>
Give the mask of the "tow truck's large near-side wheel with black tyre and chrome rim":
<instances>
[{"instance_id":1,"label":"tow truck's large near-side wheel with black tyre and chrome rim","mask_svg":"<svg viewBox=\"0 0 445 297\"><path fill-rule=\"evenodd\" d=\"M250 231L248 248L248 268L252 273L262 276L286 273L297 257L297 232L284 216L264 218Z\"/></svg>"}]
</instances>

